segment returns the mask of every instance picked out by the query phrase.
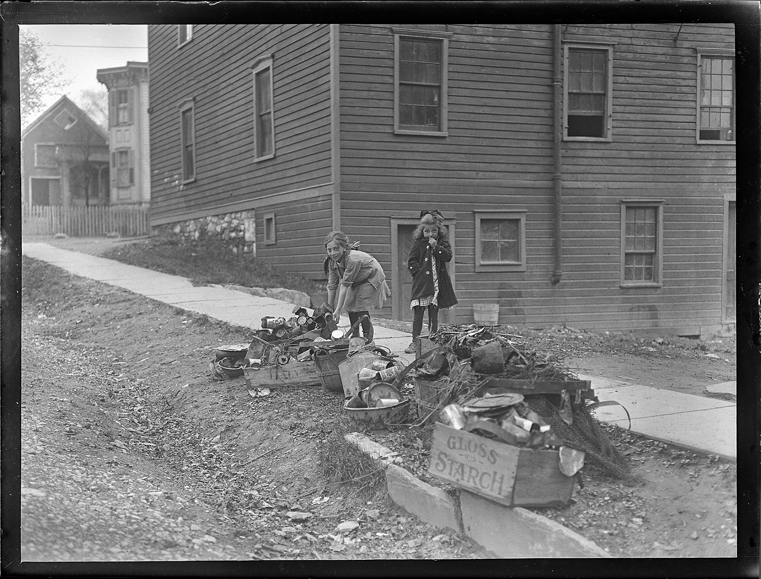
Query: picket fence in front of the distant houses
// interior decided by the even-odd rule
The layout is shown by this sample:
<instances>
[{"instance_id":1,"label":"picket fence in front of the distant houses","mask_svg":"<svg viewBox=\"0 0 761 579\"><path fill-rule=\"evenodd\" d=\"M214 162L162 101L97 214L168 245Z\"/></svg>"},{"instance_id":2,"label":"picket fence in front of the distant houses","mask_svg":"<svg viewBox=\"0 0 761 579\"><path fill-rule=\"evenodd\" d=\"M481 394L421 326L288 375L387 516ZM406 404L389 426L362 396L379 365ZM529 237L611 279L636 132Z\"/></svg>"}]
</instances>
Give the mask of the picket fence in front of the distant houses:
<instances>
[{"instance_id":1,"label":"picket fence in front of the distant houses","mask_svg":"<svg viewBox=\"0 0 761 579\"><path fill-rule=\"evenodd\" d=\"M141 205L23 205L21 231L24 235L103 237L116 232L121 237L151 233L149 210Z\"/></svg>"}]
</instances>

